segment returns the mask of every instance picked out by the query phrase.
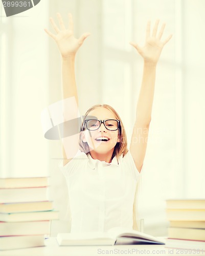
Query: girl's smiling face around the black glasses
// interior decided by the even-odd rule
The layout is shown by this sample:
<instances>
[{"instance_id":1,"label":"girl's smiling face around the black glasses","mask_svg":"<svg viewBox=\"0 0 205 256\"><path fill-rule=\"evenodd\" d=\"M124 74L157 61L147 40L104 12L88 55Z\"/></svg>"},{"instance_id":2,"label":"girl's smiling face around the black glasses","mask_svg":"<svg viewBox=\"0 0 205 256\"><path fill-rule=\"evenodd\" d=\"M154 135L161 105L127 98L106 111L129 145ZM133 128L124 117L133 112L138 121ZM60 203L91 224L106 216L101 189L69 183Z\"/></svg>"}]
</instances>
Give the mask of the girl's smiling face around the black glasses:
<instances>
[{"instance_id":1,"label":"girl's smiling face around the black glasses","mask_svg":"<svg viewBox=\"0 0 205 256\"><path fill-rule=\"evenodd\" d=\"M115 114L113 114L110 110L99 107L89 112L89 116L95 116L98 120L107 120L107 119L115 119L117 120ZM86 120L86 118L85 118ZM107 127L111 127L113 123L106 123ZM90 126L96 126L96 121L90 123ZM95 151L98 154L106 154L112 153L116 144L120 141L119 139L119 130L110 131L105 128L105 125L101 123L98 130L89 131L86 129L83 132L82 136L83 142L87 142L90 151Z\"/></svg>"}]
</instances>

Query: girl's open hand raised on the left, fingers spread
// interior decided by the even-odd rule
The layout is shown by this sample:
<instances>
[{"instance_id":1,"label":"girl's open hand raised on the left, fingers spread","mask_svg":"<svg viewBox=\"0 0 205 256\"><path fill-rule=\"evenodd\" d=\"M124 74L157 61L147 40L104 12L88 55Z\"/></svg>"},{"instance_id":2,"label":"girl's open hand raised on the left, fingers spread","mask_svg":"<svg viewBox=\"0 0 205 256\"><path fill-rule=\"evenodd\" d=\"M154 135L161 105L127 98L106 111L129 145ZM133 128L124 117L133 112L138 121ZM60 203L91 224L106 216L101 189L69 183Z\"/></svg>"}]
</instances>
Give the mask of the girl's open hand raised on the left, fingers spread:
<instances>
[{"instance_id":1,"label":"girl's open hand raised on the left, fingers spread","mask_svg":"<svg viewBox=\"0 0 205 256\"><path fill-rule=\"evenodd\" d=\"M50 22L57 34L51 33L48 29L44 29L56 42L62 58L67 58L76 54L80 46L83 44L85 38L90 33L84 33L79 39L73 35L73 18L72 14L69 13L69 28L66 29L60 13L57 13L60 29L55 24L53 18L50 18Z\"/></svg>"}]
</instances>

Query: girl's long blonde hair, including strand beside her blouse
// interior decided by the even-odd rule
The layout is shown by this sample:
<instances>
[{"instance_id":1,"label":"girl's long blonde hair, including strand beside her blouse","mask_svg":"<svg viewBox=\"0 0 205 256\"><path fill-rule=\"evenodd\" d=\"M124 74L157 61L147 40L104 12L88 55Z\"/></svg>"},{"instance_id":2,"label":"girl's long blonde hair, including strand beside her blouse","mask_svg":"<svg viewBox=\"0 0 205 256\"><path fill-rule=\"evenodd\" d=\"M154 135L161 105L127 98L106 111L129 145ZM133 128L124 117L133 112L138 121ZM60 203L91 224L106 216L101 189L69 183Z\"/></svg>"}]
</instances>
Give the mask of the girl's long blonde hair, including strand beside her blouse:
<instances>
[{"instance_id":1,"label":"girl's long blonde hair, including strand beside her blouse","mask_svg":"<svg viewBox=\"0 0 205 256\"><path fill-rule=\"evenodd\" d=\"M90 109L88 109L88 111L85 113L85 116L83 118L83 122L82 122L82 125L81 125L81 132L84 131L84 121L85 121L85 118L87 117L87 115L91 111L93 111L93 110L95 110L97 108L108 109L109 111L111 111L115 115L116 119L120 120L120 126L119 126L119 139L120 139L120 142L118 142L116 144L111 159L113 159L115 156L117 157L117 159L119 159L119 157L121 155L123 155L123 157L124 157L127 154L127 152L128 152L128 149L127 149L127 136L126 136L124 125L122 123L122 120L121 120L120 116L115 111L115 109L113 109L110 105L107 105L107 104L102 104L101 105L101 104L99 104L99 105L94 105ZM82 140L82 133L81 132L80 132L80 137L79 137L80 150L82 152L84 152L85 154L88 154L89 153L89 146L88 146L87 142L83 142L83 140ZM135 229L135 230L139 230L138 224L136 222L136 212L137 212L137 200L136 200L136 198L138 196L138 190L139 190L139 182L136 185L135 197L134 197L134 202L133 202L133 229Z\"/></svg>"}]
</instances>

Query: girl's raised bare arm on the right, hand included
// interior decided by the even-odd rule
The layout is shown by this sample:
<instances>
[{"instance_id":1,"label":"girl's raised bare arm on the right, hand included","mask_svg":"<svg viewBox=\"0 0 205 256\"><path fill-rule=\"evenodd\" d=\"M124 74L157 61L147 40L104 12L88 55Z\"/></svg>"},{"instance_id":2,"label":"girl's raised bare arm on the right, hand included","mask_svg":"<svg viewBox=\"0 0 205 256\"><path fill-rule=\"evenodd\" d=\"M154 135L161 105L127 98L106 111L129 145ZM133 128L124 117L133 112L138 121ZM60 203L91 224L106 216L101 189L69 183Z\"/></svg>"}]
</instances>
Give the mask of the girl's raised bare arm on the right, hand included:
<instances>
[{"instance_id":1,"label":"girl's raised bare arm on the right, hand included","mask_svg":"<svg viewBox=\"0 0 205 256\"><path fill-rule=\"evenodd\" d=\"M142 85L136 106L136 117L130 143L130 153L139 172L141 172L147 148L149 124L151 121L152 103L154 98L156 65L163 47L172 37L172 35L170 35L166 40L161 41L165 24L163 24L157 35L158 23L159 20L156 20L152 35L150 35L150 22L148 22L144 47L139 47L134 42L130 42L144 59Z\"/></svg>"}]
</instances>

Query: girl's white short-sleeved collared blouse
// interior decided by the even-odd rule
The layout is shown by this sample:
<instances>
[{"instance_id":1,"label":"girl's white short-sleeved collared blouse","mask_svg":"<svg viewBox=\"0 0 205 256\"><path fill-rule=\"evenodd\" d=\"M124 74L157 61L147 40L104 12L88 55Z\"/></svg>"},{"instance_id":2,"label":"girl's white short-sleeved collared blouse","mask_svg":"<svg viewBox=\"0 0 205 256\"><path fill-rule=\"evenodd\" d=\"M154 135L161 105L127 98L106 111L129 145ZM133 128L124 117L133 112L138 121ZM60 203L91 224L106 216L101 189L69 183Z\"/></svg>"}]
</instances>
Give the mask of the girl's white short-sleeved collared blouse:
<instances>
[{"instance_id":1,"label":"girl's white short-sleeved collared blouse","mask_svg":"<svg viewBox=\"0 0 205 256\"><path fill-rule=\"evenodd\" d=\"M65 166L60 164L69 188L71 232L132 228L133 202L140 173L128 153L111 163L83 152Z\"/></svg>"}]
</instances>

